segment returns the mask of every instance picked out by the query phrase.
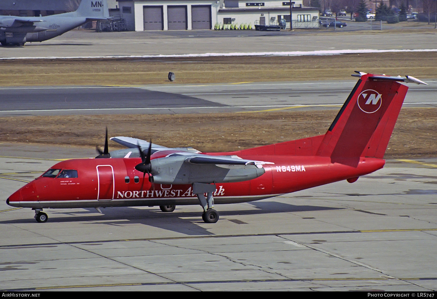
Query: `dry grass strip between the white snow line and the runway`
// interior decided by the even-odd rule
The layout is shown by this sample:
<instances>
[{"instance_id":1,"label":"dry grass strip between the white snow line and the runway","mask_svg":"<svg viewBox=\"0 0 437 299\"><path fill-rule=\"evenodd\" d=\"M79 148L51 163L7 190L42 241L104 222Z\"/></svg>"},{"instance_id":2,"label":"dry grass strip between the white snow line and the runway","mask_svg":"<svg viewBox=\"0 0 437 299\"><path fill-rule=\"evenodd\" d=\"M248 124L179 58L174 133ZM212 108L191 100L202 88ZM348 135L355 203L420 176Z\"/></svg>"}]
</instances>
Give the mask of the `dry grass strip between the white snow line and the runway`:
<instances>
[{"instance_id":1,"label":"dry grass strip between the white snow line and the runway","mask_svg":"<svg viewBox=\"0 0 437 299\"><path fill-rule=\"evenodd\" d=\"M0 61L1 86L139 85L248 81L344 80L354 70L437 77L437 52L335 56L243 56L190 59L59 59Z\"/></svg>"}]
</instances>

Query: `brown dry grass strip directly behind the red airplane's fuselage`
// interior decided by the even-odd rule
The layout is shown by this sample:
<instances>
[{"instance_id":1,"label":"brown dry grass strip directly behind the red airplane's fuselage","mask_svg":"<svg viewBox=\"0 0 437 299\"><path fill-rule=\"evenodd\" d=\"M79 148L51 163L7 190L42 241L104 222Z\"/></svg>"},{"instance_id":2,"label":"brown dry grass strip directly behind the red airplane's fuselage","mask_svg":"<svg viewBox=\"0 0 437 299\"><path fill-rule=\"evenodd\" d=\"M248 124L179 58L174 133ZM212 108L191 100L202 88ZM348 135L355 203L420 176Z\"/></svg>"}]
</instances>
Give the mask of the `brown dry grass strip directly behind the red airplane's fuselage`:
<instances>
[{"instance_id":1,"label":"brown dry grass strip directly behind the red airplane's fuselage","mask_svg":"<svg viewBox=\"0 0 437 299\"><path fill-rule=\"evenodd\" d=\"M0 141L94 147L110 136L152 138L163 146L229 151L324 134L337 111L196 115L86 115L0 118ZM436 156L437 108L401 110L386 157ZM120 148L110 143L111 149Z\"/></svg>"}]
</instances>

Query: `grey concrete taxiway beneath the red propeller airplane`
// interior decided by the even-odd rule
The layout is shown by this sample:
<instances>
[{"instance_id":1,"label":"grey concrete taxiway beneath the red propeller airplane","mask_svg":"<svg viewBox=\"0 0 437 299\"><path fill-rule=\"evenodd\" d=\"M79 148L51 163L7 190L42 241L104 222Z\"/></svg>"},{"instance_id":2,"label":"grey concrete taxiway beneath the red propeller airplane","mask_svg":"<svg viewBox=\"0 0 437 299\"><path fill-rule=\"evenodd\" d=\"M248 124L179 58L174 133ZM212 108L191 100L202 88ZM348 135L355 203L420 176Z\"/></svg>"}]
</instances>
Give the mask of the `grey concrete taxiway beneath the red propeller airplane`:
<instances>
[{"instance_id":1,"label":"grey concrete taxiway beneath the red propeller airplane","mask_svg":"<svg viewBox=\"0 0 437 299\"><path fill-rule=\"evenodd\" d=\"M354 184L216 205L215 224L198 206L47 209L49 221L36 223L7 196L52 159L91 156L51 148L0 158L2 290L437 289L435 159L392 160Z\"/></svg>"}]
</instances>

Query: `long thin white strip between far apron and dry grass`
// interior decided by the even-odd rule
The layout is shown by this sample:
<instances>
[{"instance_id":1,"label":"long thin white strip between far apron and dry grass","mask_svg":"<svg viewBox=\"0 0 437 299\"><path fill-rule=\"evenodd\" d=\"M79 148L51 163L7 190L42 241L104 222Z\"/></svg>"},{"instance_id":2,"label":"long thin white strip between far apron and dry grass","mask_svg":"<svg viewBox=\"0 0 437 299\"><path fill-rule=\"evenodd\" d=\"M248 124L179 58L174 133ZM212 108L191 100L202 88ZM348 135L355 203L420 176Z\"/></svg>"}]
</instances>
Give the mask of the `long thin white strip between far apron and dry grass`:
<instances>
[{"instance_id":1,"label":"long thin white strip between far apron and dry grass","mask_svg":"<svg viewBox=\"0 0 437 299\"><path fill-rule=\"evenodd\" d=\"M160 54L160 55L115 55L115 56L47 56L47 57L0 57L0 60L12 59L90 59L90 58L179 58L179 57L215 57L215 56L313 56L339 55L355 53L387 53L387 52L437 52L437 49L344 49L288 52L233 52L233 53L201 53L201 54Z\"/></svg>"}]
</instances>

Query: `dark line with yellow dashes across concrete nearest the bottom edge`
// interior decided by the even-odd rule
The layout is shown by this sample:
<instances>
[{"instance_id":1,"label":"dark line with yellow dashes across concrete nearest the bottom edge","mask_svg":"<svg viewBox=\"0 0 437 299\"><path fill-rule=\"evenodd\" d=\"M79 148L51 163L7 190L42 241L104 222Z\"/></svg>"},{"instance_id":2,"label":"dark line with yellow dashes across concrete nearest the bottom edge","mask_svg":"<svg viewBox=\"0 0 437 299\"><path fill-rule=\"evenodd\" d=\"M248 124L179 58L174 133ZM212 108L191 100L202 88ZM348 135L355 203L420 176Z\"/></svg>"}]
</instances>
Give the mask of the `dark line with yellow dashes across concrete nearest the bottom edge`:
<instances>
[{"instance_id":1,"label":"dark line with yellow dashes across concrete nearest the bottom edge","mask_svg":"<svg viewBox=\"0 0 437 299\"><path fill-rule=\"evenodd\" d=\"M184 282L133 282L133 283L111 283L98 285L59 285L51 287L36 287L26 289L9 289L3 290L6 292L24 292L32 290L49 290L49 289L78 289L78 288L99 288L99 287L117 287L117 286L133 286L133 285L199 285L199 284L216 284L216 283L247 283L247 282L338 282L338 281L408 281L408 280L437 280L436 277L407 277L407 278L391 278L391 277L368 277L368 278L277 278L277 279L234 279L234 280L198 280Z\"/></svg>"}]
</instances>

